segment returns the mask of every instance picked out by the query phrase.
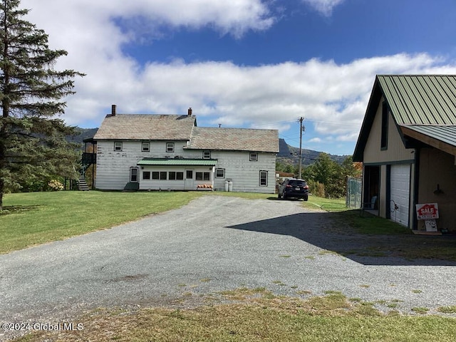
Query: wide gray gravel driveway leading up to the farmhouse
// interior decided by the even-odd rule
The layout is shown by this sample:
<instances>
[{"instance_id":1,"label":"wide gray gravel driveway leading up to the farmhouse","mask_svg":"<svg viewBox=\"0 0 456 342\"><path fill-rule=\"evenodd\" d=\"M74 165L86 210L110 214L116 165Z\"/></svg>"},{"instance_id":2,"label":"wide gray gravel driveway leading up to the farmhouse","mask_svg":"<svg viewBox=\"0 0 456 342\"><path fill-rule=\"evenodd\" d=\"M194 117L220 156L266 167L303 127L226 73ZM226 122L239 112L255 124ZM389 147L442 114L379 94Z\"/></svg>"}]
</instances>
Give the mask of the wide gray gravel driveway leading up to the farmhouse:
<instances>
[{"instance_id":1,"label":"wide gray gravel driveway leading up to the farmhouse","mask_svg":"<svg viewBox=\"0 0 456 342\"><path fill-rule=\"evenodd\" d=\"M407 313L456 305L455 264L342 257L333 247L349 240L326 232L329 224L327 213L297 201L205 196L138 222L0 255L0 323L59 321L100 306L162 305L189 291L198 298L242 286L293 296L341 291L395 301Z\"/></svg>"}]
</instances>

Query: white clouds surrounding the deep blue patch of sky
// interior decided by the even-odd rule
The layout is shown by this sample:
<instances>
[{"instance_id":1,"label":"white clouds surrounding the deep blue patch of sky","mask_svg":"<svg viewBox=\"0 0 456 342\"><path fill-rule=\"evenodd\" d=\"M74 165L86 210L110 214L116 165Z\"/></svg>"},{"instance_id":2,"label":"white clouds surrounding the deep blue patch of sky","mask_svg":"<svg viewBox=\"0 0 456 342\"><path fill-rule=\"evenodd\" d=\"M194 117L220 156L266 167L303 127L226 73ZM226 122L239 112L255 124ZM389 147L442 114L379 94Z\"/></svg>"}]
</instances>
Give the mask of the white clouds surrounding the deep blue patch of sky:
<instances>
[{"instance_id":1,"label":"white clouds surrounding the deep blue patch of sky","mask_svg":"<svg viewBox=\"0 0 456 342\"><path fill-rule=\"evenodd\" d=\"M328 11L340 3L319 4ZM192 107L199 125L284 132L304 116L321 139L356 141L375 74L456 73L454 62L445 65L444 59L426 53L346 64L314 58L264 66L179 60L140 66L121 49L138 32L123 31L113 21L142 16L160 25L209 25L239 36L266 29L274 21L259 0L40 0L39 6L23 0L21 6L32 9L29 20L49 34L52 48L68 51L56 68L87 74L76 80L77 93L68 98L63 116L68 124L81 127L100 125L111 104L118 105L118 113L186 113Z\"/></svg>"}]
</instances>

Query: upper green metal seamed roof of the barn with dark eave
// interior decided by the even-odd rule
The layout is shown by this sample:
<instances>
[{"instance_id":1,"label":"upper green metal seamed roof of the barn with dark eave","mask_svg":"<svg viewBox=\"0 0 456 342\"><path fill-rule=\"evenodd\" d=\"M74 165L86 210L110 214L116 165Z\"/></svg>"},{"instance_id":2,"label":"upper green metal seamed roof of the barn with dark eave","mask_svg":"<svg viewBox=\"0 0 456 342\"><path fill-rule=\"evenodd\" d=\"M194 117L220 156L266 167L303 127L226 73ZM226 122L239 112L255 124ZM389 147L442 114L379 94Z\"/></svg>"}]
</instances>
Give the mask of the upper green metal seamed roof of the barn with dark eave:
<instances>
[{"instance_id":1,"label":"upper green metal seamed roof of the barn with dark eave","mask_svg":"<svg viewBox=\"0 0 456 342\"><path fill-rule=\"evenodd\" d=\"M354 161L363 161L364 147L382 95L395 123L404 128L403 134L414 132L413 138L426 140L427 143L438 140L443 144L454 145L456 128L452 126L456 125L455 75L378 75L356 142Z\"/></svg>"}]
</instances>

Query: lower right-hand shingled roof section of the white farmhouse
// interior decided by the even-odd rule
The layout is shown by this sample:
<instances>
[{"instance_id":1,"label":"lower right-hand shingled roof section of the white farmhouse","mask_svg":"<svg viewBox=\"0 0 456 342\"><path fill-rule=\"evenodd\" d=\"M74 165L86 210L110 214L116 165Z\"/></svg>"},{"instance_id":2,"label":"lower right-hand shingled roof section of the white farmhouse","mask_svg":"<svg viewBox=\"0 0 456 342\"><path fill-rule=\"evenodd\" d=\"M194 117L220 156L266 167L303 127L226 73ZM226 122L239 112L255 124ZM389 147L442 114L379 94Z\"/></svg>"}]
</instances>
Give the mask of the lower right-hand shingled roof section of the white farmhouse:
<instances>
[{"instance_id":1,"label":"lower right-hand shingled roof section of the white farmhouse","mask_svg":"<svg viewBox=\"0 0 456 342\"><path fill-rule=\"evenodd\" d=\"M194 127L188 149L279 152L278 130Z\"/></svg>"}]
</instances>

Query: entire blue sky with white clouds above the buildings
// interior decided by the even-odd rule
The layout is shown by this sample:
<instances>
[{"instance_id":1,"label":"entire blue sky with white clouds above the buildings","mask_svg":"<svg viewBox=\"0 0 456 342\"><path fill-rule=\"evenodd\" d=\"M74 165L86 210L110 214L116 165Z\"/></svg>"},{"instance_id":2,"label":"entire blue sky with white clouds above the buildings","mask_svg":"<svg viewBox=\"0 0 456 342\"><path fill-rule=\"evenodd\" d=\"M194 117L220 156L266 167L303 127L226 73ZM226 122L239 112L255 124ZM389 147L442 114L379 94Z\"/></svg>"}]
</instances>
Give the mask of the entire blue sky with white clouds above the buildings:
<instances>
[{"instance_id":1,"label":"entire blue sky with white clouds above the buildings","mask_svg":"<svg viewBox=\"0 0 456 342\"><path fill-rule=\"evenodd\" d=\"M454 0L23 0L68 56L64 120L185 114L351 155L376 74L456 74ZM53 11L49 11L52 8Z\"/></svg>"}]
</instances>

